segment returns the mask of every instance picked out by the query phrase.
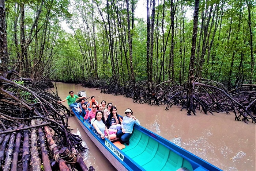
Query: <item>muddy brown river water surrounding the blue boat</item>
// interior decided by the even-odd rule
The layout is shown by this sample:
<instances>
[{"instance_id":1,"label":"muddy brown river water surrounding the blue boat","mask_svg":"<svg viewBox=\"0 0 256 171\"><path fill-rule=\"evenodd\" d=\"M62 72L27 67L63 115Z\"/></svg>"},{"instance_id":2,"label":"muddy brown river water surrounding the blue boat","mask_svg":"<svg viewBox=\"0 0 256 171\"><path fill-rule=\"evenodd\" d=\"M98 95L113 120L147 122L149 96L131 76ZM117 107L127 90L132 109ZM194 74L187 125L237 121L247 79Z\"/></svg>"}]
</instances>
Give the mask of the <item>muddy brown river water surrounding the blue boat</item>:
<instances>
[{"instance_id":1,"label":"muddy brown river water surrounding the blue boat","mask_svg":"<svg viewBox=\"0 0 256 171\"><path fill-rule=\"evenodd\" d=\"M80 85L57 83L58 95L64 100L69 91L76 94L85 90L87 97L95 96L100 103L105 100L117 107L118 114L124 116L126 108L133 110L140 124L175 143L176 145L214 164L222 170L255 170L255 132L256 125L234 120L234 114L197 112L197 116L187 116L187 111L173 106L165 110L163 105L133 103L131 98L100 93L97 89L83 88ZM55 89L53 89L55 91ZM65 106L67 102L62 103ZM89 148L83 158L87 167L95 170L115 170L102 155L96 145L83 131L75 117L69 118L73 133L83 139L83 146Z\"/></svg>"}]
</instances>

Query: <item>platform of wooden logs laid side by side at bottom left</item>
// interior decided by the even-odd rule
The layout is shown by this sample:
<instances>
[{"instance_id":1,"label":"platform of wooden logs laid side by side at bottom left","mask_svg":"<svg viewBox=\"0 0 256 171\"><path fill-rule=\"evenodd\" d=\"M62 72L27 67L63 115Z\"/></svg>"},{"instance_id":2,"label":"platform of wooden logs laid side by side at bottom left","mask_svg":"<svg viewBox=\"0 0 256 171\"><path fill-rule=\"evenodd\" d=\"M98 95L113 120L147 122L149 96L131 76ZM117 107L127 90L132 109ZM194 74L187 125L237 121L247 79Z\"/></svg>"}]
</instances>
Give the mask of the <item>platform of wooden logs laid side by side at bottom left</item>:
<instances>
[{"instance_id":1,"label":"platform of wooden logs laid side by side at bottom left","mask_svg":"<svg viewBox=\"0 0 256 171\"><path fill-rule=\"evenodd\" d=\"M88 170L75 148L72 151L67 147L59 149L49 124L37 119L31 120L30 126L20 124L18 128L0 132L0 166L3 171L26 171L30 166L32 170L71 170L71 166Z\"/></svg>"}]
</instances>

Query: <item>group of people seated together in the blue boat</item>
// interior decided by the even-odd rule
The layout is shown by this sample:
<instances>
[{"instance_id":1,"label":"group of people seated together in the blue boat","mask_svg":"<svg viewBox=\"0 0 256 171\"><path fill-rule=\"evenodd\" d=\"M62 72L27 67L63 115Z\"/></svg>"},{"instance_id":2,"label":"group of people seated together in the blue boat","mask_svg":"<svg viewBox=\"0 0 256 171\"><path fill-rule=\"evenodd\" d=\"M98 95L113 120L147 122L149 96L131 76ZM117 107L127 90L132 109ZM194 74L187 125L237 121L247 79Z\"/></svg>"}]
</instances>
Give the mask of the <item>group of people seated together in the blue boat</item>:
<instances>
[{"instance_id":1,"label":"group of people seated together in the blue boat","mask_svg":"<svg viewBox=\"0 0 256 171\"><path fill-rule=\"evenodd\" d=\"M79 98L78 103L76 103L77 98ZM95 97L91 96L91 100L86 103L86 98L88 97L78 97L74 95L73 91L70 91L69 96L58 103L68 101L68 106L75 108L84 120L89 121L102 139L111 140L118 137L121 144L125 143L128 146L134 124L140 125L138 119L133 116L132 110L125 109L126 116L121 119L117 114L116 106L113 106L111 102L107 105L105 100L98 103Z\"/></svg>"}]
</instances>

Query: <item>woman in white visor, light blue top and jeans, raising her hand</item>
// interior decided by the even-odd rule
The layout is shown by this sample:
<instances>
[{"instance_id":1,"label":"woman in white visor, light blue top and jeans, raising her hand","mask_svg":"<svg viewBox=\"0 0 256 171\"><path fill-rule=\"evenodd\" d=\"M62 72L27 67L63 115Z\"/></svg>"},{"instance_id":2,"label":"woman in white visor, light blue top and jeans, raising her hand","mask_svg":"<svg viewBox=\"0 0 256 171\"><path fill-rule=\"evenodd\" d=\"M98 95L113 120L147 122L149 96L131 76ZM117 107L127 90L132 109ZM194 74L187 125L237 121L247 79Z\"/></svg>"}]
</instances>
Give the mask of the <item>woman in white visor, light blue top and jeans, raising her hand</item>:
<instances>
[{"instance_id":1,"label":"woman in white visor, light blue top and jeans, raising her hand","mask_svg":"<svg viewBox=\"0 0 256 171\"><path fill-rule=\"evenodd\" d=\"M140 122L138 121L138 119L132 116L133 112L131 109L129 108L126 109L125 114L126 116L123 117L123 122L121 124L122 130L119 130L117 132L117 137L121 139L120 140L121 144L126 143L126 145L128 146L130 144L129 138L132 135L133 126L134 124L140 126Z\"/></svg>"}]
</instances>

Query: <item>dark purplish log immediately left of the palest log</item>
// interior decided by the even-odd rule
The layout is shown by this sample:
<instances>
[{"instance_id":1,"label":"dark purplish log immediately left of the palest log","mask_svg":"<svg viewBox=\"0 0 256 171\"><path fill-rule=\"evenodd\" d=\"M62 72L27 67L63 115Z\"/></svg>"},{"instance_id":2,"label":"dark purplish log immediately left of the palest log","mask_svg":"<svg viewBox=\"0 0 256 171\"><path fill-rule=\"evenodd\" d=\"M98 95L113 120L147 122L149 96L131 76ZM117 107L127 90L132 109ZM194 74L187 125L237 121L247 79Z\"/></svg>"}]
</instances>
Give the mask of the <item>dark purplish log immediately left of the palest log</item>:
<instances>
[{"instance_id":1,"label":"dark purplish log immediately left of the palest log","mask_svg":"<svg viewBox=\"0 0 256 171\"><path fill-rule=\"evenodd\" d=\"M25 128L27 125L25 126ZM22 151L22 171L29 170L29 160L30 160L30 152L29 152L29 131L25 130L24 132L24 142L23 142L23 151Z\"/></svg>"}]
</instances>

